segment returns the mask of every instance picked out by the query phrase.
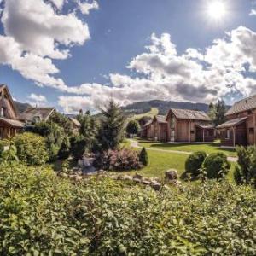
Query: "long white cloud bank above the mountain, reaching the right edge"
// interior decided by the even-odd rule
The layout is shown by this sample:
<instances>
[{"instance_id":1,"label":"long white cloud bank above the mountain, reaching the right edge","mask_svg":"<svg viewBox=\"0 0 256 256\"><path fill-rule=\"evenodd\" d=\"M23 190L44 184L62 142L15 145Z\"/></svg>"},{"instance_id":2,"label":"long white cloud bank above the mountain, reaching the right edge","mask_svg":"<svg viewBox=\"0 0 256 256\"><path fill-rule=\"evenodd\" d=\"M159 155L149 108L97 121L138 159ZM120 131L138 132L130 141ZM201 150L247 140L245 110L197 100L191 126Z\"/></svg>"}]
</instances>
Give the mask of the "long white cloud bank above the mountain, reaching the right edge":
<instances>
[{"instance_id":1,"label":"long white cloud bank above the mountain, reaching the right edge","mask_svg":"<svg viewBox=\"0 0 256 256\"><path fill-rule=\"evenodd\" d=\"M228 94L248 96L256 91L256 80L247 75L256 68L256 33L246 27L226 33L206 49L187 49L181 55L170 35L153 34L151 41L129 63L135 71L131 76L112 73L111 86L75 87L73 92L86 95L61 96L61 107L67 112L96 109L111 97L122 105L154 99L212 102Z\"/></svg>"}]
</instances>

